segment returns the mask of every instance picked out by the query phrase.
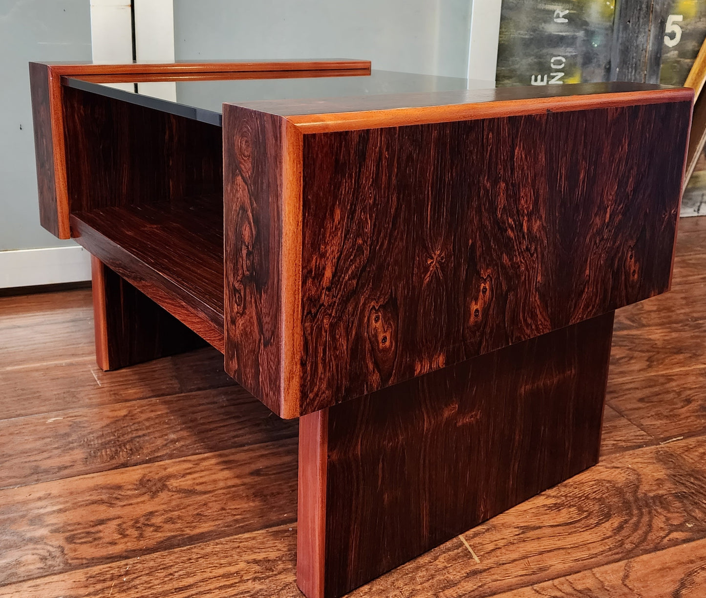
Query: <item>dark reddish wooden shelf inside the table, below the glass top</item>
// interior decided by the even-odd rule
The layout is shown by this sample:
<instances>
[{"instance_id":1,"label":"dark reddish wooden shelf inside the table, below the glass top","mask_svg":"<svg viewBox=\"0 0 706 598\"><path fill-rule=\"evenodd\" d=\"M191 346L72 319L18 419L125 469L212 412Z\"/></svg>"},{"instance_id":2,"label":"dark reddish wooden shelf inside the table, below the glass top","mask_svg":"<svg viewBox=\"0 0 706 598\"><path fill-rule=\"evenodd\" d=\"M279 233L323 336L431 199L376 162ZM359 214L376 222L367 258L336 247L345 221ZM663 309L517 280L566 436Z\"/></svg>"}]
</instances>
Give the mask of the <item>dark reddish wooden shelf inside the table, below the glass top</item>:
<instances>
[{"instance_id":1,"label":"dark reddish wooden shelf inside the table, below the glass top","mask_svg":"<svg viewBox=\"0 0 706 598\"><path fill-rule=\"evenodd\" d=\"M222 198L71 215L76 241L223 351Z\"/></svg>"}]
</instances>

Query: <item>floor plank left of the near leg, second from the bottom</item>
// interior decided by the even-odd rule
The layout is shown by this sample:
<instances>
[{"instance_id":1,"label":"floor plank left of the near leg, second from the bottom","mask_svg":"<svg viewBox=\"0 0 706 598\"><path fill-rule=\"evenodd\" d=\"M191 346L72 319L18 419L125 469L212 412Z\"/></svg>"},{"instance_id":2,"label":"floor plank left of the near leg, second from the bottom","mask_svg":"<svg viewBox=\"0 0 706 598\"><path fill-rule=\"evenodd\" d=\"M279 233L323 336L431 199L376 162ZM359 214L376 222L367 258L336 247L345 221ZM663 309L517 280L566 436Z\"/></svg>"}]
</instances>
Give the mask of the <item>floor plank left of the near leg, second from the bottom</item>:
<instances>
[{"instance_id":1,"label":"floor plank left of the near leg, second from the bottom","mask_svg":"<svg viewBox=\"0 0 706 598\"><path fill-rule=\"evenodd\" d=\"M0 586L297 518L297 441L0 491Z\"/></svg>"}]
</instances>

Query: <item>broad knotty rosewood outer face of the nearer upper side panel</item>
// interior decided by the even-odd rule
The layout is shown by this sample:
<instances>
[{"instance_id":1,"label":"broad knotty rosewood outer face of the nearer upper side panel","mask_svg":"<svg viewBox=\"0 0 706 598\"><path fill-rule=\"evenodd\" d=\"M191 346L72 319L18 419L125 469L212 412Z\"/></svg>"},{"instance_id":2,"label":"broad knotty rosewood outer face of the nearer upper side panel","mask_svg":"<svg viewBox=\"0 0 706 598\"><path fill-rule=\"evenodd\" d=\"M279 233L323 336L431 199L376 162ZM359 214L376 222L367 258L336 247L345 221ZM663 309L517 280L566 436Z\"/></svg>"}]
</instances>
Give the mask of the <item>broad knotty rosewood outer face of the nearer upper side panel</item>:
<instances>
[{"instance_id":1,"label":"broad knotty rosewood outer face of the nearer upper side panel","mask_svg":"<svg viewBox=\"0 0 706 598\"><path fill-rule=\"evenodd\" d=\"M304 135L301 413L669 288L690 102Z\"/></svg>"}]
</instances>

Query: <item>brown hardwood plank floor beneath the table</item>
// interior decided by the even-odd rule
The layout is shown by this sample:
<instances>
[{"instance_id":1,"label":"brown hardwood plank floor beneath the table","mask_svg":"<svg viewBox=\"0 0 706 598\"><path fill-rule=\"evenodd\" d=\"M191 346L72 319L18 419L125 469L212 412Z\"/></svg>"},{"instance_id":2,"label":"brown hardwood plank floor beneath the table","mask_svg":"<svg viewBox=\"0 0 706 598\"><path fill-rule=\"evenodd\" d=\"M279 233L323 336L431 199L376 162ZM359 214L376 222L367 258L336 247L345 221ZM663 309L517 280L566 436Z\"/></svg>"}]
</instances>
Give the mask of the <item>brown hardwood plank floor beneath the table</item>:
<instances>
[{"instance_id":1,"label":"brown hardwood plank floor beneath the table","mask_svg":"<svg viewBox=\"0 0 706 598\"><path fill-rule=\"evenodd\" d=\"M297 422L215 349L102 372L90 291L0 297L0 596L298 597ZM616 312L596 467L350 594L706 595L706 217Z\"/></svg>"}]
</instances>

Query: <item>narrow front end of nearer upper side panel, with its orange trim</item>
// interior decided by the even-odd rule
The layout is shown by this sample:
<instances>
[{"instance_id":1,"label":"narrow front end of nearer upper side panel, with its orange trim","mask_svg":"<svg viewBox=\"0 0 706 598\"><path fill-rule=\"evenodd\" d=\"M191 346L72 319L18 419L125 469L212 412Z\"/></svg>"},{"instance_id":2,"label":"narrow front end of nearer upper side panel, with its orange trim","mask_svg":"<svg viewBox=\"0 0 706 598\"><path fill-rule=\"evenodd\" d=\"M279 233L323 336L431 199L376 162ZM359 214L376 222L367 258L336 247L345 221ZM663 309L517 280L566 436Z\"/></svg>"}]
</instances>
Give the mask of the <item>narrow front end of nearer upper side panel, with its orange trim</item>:
<instances>
[{"instance_id":1,"label":"narrow front end of nearer upper side panel, with its orange trim","mask_svg":"<svg viewBox=\"0 0 706 598\"><path fill-rule=\"evenodd\" d=\"M225 369L282 417L299 415L301 136L223 107Z\"/></svg>"}]
</instances>

